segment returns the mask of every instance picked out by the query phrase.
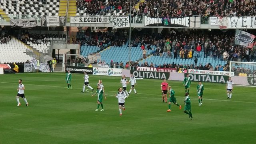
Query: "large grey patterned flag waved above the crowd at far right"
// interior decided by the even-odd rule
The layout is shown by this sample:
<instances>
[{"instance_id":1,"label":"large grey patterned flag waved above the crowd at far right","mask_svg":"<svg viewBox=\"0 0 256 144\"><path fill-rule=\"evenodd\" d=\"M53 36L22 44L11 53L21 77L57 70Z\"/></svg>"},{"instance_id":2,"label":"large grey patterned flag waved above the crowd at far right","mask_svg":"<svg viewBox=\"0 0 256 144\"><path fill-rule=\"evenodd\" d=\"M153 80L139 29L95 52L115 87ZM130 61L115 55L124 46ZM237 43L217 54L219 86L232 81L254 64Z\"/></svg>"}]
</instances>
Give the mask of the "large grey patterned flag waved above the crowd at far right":
<instances>
[{"instance_id":1,"label":"large grey patterned flag waved above the crowd at far right","mask_svg":"<svg viewBox=\"0 0 256 144\"><path fill-rule=\"evenodd\" d=\"M235 44L246 46L248 48L253 47L253 40L255 36L242 30L236 30Z\"/></svg>"}]
</instances>

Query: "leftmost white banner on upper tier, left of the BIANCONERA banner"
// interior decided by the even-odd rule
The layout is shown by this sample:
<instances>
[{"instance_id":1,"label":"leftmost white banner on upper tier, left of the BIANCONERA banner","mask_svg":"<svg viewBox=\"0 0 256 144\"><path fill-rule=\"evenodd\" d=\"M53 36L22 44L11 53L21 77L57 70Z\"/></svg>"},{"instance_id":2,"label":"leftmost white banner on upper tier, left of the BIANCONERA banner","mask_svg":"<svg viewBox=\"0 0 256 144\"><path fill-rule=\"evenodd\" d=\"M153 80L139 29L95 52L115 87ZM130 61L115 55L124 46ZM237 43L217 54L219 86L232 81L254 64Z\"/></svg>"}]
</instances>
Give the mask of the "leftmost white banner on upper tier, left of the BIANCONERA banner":
<instances>
[{"instance_id":1,"label":"leftmost white banner on upper tier, left of the BIANCONERA banner","mask_svg":"<svg viewBox=\"0 0 256 144\"><path fill-rule=\"evenodd\" d=\"M22 28L31 28L36 26L35 18L27 18L27 19L15 19L10 20L11 26L20 26Z\"/></svg>"}]
</instances>

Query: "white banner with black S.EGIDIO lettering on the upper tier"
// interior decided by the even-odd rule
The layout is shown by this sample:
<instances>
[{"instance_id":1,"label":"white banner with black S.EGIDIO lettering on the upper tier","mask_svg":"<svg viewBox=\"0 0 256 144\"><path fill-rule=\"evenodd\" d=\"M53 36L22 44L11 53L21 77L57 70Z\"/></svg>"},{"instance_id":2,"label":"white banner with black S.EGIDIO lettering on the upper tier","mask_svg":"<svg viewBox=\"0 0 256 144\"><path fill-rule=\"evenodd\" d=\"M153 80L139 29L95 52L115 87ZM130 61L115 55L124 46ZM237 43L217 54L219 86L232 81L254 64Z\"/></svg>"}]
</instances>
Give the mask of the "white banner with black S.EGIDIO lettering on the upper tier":
<instances>
[{"instance_id":1,"label":"white banner with black S.EGIDIO lettering on the upper tier","mask_svg":"<svg viewBox=\"0 0 256 144\"><path fill-rule=\"evenodd\" d=\"M80 24L108 24L110 22L110 17L108 16L71 16L70 23L80 23Z\"/></svg>"}]
</instances>

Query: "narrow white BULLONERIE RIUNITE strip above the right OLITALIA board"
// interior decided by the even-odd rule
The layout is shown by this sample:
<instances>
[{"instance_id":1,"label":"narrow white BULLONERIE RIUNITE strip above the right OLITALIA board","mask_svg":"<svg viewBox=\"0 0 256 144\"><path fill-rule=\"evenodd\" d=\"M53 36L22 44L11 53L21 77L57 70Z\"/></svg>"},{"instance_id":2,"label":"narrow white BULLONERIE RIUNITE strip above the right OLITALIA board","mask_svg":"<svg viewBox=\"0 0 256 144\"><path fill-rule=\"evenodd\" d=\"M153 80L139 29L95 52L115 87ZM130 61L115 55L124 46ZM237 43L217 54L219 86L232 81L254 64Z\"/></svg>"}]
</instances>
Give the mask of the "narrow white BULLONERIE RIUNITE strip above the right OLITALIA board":
<instances>
[{"instance_id":1,"label":"narrow white BULLONERIE RIUNITE strip above the right OLITALIA board","mask_svg":"<svg viewBox=\"0 0 256 144\"><path fill-rule=\"evenodd\" d=\"M193 69L188 69L188 73L190 73L190 74L212 74L212 75L230 76L230 72L215 71L215 70L193 70ZM231 76L234 76L234 72L231 72Z\"/></svg>"}]
</instances>

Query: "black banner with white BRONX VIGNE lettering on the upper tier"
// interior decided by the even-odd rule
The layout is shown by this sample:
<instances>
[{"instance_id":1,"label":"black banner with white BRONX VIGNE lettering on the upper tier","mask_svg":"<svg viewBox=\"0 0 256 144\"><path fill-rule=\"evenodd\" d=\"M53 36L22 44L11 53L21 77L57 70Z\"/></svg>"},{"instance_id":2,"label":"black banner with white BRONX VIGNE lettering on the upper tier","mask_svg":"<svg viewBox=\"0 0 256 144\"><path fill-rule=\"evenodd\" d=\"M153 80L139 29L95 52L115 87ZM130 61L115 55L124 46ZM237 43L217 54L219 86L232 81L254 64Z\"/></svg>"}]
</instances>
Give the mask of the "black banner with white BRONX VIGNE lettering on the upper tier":
<instances>
[{"instance_id":1,"label":"black banner with white BRONX VIGNE lettering on the upper tier","mask_svg":"<svg viewBox=\"0 0 256 144\"><path fill-rule=\"evenodd\" d=\"M144 26L172 26L172 27L189 27L190 17L184 18L150 18L144 16Z\"/></svg>"}]
</instances>

